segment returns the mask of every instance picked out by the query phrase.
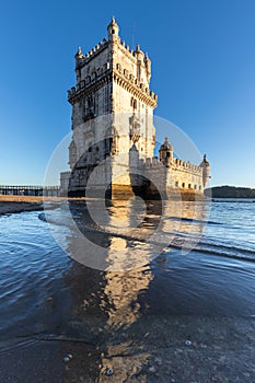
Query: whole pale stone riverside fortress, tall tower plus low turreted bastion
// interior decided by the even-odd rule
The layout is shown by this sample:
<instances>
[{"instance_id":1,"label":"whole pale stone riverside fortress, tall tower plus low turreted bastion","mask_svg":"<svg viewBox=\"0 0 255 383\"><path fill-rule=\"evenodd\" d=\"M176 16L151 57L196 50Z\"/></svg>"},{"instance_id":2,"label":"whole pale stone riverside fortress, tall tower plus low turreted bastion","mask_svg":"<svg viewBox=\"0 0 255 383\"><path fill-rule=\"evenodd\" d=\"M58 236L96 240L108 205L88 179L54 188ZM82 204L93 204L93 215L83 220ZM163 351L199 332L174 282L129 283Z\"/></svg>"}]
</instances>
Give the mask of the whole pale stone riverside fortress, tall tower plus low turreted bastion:
<instances>
[{"instance_id":1,"label":"whole pale stone riverside fortress, tall tower plus low turreted bastion","mask_svg":"<svg viewBox=\"0 0 255 383\"><path fill-rule=\"evenodd\" d=\"M103 39L86 55L76 55L77 85L68 91L72 105L70 172L60 174L61 194L92 196L96 190L166 194L202 193L209 179L206 158L199 166L175 159L167 139L153 156L151 61L137 45L131 50L118 36L113 19Z\"/></svg>"}]
</instances>

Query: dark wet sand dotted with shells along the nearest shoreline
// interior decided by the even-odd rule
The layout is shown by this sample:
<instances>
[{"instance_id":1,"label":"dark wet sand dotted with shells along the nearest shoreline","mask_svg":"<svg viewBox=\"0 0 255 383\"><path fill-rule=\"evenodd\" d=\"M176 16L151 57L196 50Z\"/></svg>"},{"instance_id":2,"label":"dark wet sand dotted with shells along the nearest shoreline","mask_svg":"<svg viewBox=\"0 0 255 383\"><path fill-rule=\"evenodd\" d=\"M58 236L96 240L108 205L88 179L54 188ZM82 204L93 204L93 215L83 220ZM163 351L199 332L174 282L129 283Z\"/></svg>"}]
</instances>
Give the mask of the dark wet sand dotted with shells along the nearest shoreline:
<instances>
[{"instance_id":1,"label":"dark wet sand dotted with shells along the nearest shoreline","mask_svg":"<svg viewBox=\"0 0 255 383\"><path fill-rule=\"evenodd\" d=\"M97 346L79 339L67 341L63 337L62 341L23 341L11 350L2 350L0 380L251 383L255 372L253 334L254 323L245 320L148 317L118 336L102 336ZM68 353L72 358L65 362ZM107 369L114 372L112 376L106 375Z\"/></svg>"}]
</instances>

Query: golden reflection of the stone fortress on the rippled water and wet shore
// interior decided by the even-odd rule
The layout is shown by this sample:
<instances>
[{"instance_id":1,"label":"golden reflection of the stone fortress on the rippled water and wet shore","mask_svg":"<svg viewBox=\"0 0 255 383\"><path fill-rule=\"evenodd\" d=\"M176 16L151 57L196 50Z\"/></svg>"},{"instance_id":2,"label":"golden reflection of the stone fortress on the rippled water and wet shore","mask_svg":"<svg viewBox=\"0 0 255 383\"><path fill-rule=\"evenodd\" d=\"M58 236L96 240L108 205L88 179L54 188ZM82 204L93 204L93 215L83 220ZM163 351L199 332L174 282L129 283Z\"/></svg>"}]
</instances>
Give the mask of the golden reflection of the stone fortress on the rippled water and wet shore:
<instances>
[{"instance_id":1,"label":"golden reflection of the stone fortress on the rippled water and wet shore","mask_svg":"<svg viewBox=\"0 0 255 383\"><path fill-rule=\"evenodd\" d=\"M90 231L90 240L107 248L108 269L100 271L73 263L66 278L72 299L68 330L84 339L84 358L91 352L90 347L94 348L93 379L108 381L105 373L112 369L116 382L137 375L142 381L155 352L148 341L150 318L147 316L150 309L147 297L154 275L149 262L131 268L134 256L142 257L144 253L150 256L143 259L152 260L159 247L163 249L157 240L163 243L166 237L170 245L182 243L188 247L190 237L193 242L198 241L204 229L204 224L194 222L204 222L206 213L202 204L171 201L164 201L163 207L158 201L150 202L143 211L137 209L131 200L112 201L107 209L108 233L98 235L96 230L95 233ZM78 221L80 228L92 224L88 210L79 214ZM113 232L118 235L113 235ZM155 232L153 241L150 241ZM70 249L73 248L72 240L70 236ZM121 271L124 264L126 270Z\"/></svg>"}]
</instances>

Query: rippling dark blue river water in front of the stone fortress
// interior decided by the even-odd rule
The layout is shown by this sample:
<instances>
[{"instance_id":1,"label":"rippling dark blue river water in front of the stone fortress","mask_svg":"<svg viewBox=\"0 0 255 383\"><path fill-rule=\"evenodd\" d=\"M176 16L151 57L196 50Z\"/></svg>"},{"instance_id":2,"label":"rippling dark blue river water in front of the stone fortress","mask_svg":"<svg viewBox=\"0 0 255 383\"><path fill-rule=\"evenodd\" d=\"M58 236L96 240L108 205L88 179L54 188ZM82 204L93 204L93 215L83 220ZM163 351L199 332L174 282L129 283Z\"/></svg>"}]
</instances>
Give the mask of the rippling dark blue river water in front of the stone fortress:
<instances>
[{"instance_id":1,"label":"rippling dark blue river water in front of the stone fortress","mask_svg":"<svg viewBox=\"0 0 255 383\"><path fill-rule=\"evenodd\" d=\"M59 363L62 344L73 353L45 382L254 381L255 204L171 208L160 247L162 231L150 241L160 216L153 204L128 233L115 221L98 230L84 204L71 207L82 235L107 249L104 269L88 267L86 247L83 264L73 256L67 205L0 217L1 381L33 381L18 372L7 380L7 356L44 341L59 343ZM125 202L108 211L125 228ZM119 248L128 264L119 266ZM136 249L142 260L132 268Z\"/></svg>"}]
</instances>

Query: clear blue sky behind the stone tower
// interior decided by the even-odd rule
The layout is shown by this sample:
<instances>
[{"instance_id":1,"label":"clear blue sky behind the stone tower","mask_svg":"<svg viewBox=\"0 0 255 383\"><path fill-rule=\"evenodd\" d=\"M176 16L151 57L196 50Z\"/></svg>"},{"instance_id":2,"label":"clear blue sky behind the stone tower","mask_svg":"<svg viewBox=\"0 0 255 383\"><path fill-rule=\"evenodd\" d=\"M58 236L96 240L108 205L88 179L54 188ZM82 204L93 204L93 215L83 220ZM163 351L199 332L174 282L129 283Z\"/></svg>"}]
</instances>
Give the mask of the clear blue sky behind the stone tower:
<instances>
[{"instance_id":1,"label":"clear blue sky behind the stone tower","mask_svg":"<svg viewBox=\"0 0 255 383\"><path fill-rule=\"evenodd\" d=\"M113 14L149 53L155 114L207 153L211 185L255 187L254 0L1 1L0 184L43 184L70 132L73 55Z\"/></svg>"}]
</instances>

